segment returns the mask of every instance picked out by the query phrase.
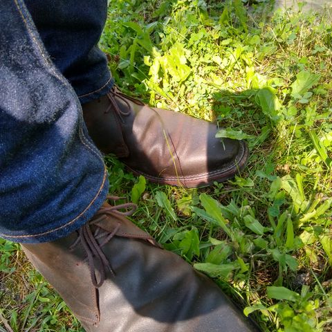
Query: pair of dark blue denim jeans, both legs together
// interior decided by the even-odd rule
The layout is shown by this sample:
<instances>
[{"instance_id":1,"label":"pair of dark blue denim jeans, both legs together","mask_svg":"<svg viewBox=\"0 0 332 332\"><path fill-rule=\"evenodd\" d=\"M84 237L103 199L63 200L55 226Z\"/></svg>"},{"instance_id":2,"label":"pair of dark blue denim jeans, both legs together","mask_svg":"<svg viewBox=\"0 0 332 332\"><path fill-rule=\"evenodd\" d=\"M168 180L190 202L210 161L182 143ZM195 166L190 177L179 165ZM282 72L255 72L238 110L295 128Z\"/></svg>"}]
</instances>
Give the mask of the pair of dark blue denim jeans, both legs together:
<instances>
[{"instance_id":1,"label":"pair of dark blue denim jeans, both legs together","mask_svg":"<svg viewBox=\"0 0 332 332\"><path fill-rule=\"evenodd\" d=\"M39 30L23 0L0 1L0 237L39 243L80 228L105 199L77 95L98 98L113 82L95 46L106 0L27 2Z\"/></svg>"}]
</instances>

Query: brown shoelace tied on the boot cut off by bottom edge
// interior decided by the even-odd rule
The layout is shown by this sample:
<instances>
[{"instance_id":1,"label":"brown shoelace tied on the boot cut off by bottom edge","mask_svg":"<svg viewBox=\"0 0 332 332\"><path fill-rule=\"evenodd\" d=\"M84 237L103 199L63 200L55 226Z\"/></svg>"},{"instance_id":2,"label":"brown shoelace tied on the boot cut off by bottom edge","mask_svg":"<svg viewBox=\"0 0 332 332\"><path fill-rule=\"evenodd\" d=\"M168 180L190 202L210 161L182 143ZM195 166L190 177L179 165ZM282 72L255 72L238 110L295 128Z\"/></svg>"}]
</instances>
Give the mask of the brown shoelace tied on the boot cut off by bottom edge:
<instances>
[{"instance_id":1,"label":"brown shoelace tied on the boot cut off by bottom edge","mask_svg":"<svg viewBox=\"0 0 332 332\"><path fill-rule=\"evenodd\" d=\"M123 197L107 196L107 199L112 201L118 201L119 199L123 199ZM114 237L116 232L118 232L118 229L120 228L120 223L118 223L117 227L111 233L107 232L106 230L102 230L98 227L98 225L96 226L95 232L92 232L91 226L107 218L107 214L116 213L122 216L130 216L131 214L133 214L133 212L135 212L136 208L137 205L134 203L124 203L119 205L112 205L109 207L102 207L100 208L100 210L98 210L95 216L93 216L93 219L91 219L88 223L83 225L80 230L78 230L78 237L76 241L71 245L69 250L73 250L78 245L78 243L82 244L82 247L86 252L86 259L89 261L91 281L95 288L100 288L100 286L102 286L102 284L104 283L107 269L112 273L112 275L115 275L114 271L111 268L111 264L109 264L109 260L104 255L104 252L102 252L102 246L108 243L112 239L112 237ZM100 243L98 243L97 240L103 237L104 239L100 241ZM99 282L97 281L97 276L95 273L95 264L98 264L100 266Z\"/></svg>"}]
</instances>

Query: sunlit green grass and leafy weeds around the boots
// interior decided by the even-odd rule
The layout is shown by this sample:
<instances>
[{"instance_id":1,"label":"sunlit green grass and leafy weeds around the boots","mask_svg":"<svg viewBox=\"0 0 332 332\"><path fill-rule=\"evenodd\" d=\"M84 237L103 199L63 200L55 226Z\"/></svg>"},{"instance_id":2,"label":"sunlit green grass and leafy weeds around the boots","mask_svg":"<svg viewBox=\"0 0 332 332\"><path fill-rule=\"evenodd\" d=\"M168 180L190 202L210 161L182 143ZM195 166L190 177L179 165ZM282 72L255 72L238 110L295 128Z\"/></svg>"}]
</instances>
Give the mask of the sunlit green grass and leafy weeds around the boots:
<instances>
[{"instance_id":1,"label":"sunlit green grass and leafy weeds around the boots","mask_svg":"<svg viewBox=\"0 0 332 332\"><path fill-rule=\"evenodd\" d=\"M248 140L250 158L231 181L185 190L108 157L110 190L264 331L332 331L332 26L272 8L111 1L101 45L118 86L216 120L220 137ZM17 245L0 240L0 252L0 331L82 331Z\"/></svg>"}]
</instances>

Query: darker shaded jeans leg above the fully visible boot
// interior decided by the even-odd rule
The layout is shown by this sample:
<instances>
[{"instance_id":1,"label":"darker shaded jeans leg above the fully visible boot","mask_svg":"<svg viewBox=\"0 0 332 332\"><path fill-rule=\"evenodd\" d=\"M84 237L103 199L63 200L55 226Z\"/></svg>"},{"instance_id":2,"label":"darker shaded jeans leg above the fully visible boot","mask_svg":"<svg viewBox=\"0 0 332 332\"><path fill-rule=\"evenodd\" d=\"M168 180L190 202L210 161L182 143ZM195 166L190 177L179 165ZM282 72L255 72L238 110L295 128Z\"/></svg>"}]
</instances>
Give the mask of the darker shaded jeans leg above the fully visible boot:
<instances>
[{"instance_id":1,"label":"darker shaded jeans leg above the fully visible boot","mask_svg":"<svg viewBox=\"0 0 332 332\"><path fill-rule=\"evenodd\" d=\"M81 103L113 86L98 41L107 19L107 0L24 0L40 37Z\"/></svg>"}]
</instances>

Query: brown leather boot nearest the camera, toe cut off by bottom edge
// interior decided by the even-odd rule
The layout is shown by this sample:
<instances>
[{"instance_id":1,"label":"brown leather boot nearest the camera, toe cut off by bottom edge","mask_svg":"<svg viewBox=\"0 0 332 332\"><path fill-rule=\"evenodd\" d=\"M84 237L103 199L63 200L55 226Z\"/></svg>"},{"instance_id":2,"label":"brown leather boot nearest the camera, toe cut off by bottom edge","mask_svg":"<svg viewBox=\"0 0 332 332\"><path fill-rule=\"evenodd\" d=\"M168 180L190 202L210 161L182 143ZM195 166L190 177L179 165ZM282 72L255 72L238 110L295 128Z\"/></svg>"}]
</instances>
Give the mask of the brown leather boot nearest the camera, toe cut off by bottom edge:
<instances>
[{"instance_id":1,"label":"brown leather boot nearest the camera, toe cut off by bottom edge","mask_svg":"<svg viewBox=\"0 0 332 332\"><path fill-rule=\"evenodd\" d=\"M86 331L259 331L208 277L118 208L104 203L68 237L22 245Z\"/></svg>"}]
</instances>

